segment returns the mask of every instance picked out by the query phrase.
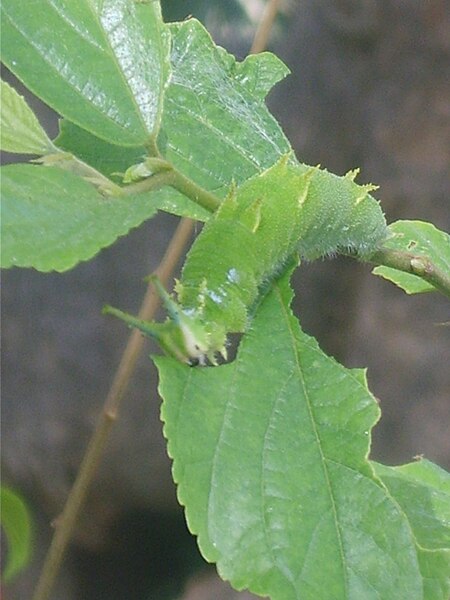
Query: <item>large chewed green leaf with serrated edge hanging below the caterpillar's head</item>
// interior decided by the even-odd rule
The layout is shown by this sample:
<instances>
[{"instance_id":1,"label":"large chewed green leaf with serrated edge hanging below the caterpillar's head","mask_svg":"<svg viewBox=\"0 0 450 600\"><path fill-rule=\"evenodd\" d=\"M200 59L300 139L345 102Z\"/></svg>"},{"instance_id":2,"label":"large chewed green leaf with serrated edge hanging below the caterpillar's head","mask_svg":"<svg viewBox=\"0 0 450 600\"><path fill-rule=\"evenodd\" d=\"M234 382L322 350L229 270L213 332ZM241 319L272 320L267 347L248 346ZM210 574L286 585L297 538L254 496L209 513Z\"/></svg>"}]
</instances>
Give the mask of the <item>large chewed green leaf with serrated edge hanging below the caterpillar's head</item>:
<instances>
[{"instance_id":1,"label":"large chewed green leaf with serrated edge hanging below the caterpillar's head","mask_svg":"<svg viewBox=\"0 0 450 600\"><path fill-rule=\"evenodd\" d=\"M364 372L323 354L290 299L275 286L231 364L156 359L189 527L222 577L272 600L422 599L408 522L366 461Z\"/></svg>"}]
</instances>

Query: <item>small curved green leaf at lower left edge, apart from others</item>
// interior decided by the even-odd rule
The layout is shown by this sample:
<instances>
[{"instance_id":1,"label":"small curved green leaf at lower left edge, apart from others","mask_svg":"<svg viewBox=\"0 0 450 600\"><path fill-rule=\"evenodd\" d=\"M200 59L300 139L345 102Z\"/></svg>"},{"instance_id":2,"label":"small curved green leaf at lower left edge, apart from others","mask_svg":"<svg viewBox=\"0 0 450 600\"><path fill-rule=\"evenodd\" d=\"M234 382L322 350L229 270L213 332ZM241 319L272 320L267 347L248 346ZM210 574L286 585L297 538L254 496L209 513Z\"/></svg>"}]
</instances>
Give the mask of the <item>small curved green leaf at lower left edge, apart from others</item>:
<instances>
[{"instance_id":1,"label":"small curved green leaf at lower left edge, apart from others","mask_svg":"<svg viewBox=\"0 0 450 600\"><path fill-rule=\"evenodd\" d=\"M5 583L21 571L31 553L31 520L20 496L4 485L0 488L1 525L8 544L6 565L2 574Z\"/></svg>"}]
</instances>

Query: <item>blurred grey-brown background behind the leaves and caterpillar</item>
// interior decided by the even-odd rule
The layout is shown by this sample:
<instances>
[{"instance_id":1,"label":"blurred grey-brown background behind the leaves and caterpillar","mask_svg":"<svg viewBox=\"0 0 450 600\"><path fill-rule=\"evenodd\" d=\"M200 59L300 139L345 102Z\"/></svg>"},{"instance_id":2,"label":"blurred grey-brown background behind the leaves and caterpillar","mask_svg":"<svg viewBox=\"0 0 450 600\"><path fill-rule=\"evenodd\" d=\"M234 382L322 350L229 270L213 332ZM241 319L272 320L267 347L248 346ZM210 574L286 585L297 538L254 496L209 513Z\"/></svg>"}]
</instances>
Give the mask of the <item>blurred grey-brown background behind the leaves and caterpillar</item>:
<instances>
[{"instance_id":1,"label":"blurred grey-brown background behind the leaves and caterpillar","mask_svg":"<svg viewBox=\"0 0 450 600\"><path fill-rule=\"evenodd\" d=\"M359 166L361 182L380 185L389 221L417 218L448 230L446 0L297 0L291 10L274 50L292 75L269 103L300 160L337 173ZM32 504L37 547L9 599L30 597L49 523L62 508L125 343L126 330L102 317L101 307L136 312L141 280L158 264L174 224L159 216L63 275L4 274L4 478ZM305 330L347 366L369 368L383 411L374 458L394 464L424 453L449 467L450 329L436 325L449 320L448 302L407 297L341 259L303 265L295 282ZM197 563L176 504L155 383L145 356L55 599L174 597ZM218 584L211 585L208 591L202 581L200 592L192 584L187 597L194 588L197 600L219 597Z\"/></svg>"}]
</instances>

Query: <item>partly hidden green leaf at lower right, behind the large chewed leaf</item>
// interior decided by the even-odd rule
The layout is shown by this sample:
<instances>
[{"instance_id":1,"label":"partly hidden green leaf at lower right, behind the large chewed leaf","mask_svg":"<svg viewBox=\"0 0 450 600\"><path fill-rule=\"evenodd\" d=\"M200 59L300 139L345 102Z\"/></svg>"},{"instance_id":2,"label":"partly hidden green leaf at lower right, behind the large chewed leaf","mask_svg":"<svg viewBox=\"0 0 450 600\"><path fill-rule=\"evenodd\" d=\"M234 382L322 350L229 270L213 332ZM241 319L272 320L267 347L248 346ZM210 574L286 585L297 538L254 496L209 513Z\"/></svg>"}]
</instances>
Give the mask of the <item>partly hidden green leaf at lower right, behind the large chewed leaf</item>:
<instances>
[{"instance_id":1,"label":"partly hidden green leaf at lower right, behind the large chewed leaf","mask_svg":"<svg viewBox=\"0 0 450 600\"><path fill-rule=\"evenodd\" d=\"M373 463L414 533L425 600L450 595L450 474L427 460L400 467Z\"/></svg>"}]
</instances>

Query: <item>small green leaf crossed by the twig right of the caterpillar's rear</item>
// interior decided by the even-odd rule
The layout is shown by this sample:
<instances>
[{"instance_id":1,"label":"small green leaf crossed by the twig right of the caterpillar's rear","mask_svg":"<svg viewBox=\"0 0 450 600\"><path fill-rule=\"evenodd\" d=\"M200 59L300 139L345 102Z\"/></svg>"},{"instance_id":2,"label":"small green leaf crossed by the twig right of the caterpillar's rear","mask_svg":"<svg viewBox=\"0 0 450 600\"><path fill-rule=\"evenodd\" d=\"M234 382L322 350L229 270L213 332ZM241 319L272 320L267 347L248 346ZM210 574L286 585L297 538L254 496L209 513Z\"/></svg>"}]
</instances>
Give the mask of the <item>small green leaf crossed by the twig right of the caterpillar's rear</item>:
<instances>
[{"instance_id":1,"label":"small green leaf crossed by the twig right of the caterpillar's rear","mask_svg":"<svg viewBox=\"0 0 450 600\"><path fill-rule=\"evenodd\" d=\"M408 252L411 257L426 257L450 278L450 236L448 233L423 221L396 221L389 225L388 229L394 235L383 245L384 248ZM374 275L392 281L407 294L436 291L431 283L420 277L391 267L375 267L372 272Z\"/></svg>"}]
</instances>

